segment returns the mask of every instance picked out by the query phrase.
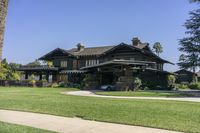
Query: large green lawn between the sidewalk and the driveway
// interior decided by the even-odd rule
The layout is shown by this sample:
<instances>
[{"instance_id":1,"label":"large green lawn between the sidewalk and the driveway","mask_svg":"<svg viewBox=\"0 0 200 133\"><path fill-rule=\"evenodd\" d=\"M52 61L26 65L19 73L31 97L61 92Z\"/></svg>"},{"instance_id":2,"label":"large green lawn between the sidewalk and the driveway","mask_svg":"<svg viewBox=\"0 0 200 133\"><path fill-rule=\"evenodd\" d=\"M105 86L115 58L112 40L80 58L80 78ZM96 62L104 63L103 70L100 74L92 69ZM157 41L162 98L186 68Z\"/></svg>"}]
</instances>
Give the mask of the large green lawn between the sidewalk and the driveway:
<instances>
[{"instance_id":1,"label":"large green lawn between the sidewalk and the driveway","mask_svg":"<svg viewBox=\"0 0 200 133\"><path fill-rule=\"evenodd\" d=\"M200 103L60 94L66 90L0 88L0 108L200 133Z\"/></svg>"}]
</instances>

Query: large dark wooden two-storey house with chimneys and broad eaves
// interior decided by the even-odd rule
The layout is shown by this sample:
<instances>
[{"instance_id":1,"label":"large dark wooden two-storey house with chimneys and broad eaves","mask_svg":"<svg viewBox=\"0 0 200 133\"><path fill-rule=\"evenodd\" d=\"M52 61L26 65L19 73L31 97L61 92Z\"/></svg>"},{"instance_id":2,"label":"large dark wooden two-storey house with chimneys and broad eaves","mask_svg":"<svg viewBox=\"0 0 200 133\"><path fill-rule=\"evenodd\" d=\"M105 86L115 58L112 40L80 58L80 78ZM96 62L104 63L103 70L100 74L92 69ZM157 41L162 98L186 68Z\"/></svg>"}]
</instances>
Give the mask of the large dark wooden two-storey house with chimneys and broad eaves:
<instances>
[{"instance_id":1,"label":"large dark wooden two-storey house with chimneys and broad eaves","mask_svg":"<svg viewBox=\"0 0 200 133\"><path fill-rule=\"evenodd\" d=\"M26 67L25 78L34 73L52 75L53 82L65 81L80 84L85 75L90 75L93 88L102 84L113 84L122 88L132 82L133 77L139 77L143 82L166 85L167 75L163 70L165 63L173 64L160 58L152 52L148 43L142 43L133 38L131 44L120 43L112 46L85 47L79 43L69 50L57 48L39 60L51 61L53 66Z\"/></svg>"}]
</instances>

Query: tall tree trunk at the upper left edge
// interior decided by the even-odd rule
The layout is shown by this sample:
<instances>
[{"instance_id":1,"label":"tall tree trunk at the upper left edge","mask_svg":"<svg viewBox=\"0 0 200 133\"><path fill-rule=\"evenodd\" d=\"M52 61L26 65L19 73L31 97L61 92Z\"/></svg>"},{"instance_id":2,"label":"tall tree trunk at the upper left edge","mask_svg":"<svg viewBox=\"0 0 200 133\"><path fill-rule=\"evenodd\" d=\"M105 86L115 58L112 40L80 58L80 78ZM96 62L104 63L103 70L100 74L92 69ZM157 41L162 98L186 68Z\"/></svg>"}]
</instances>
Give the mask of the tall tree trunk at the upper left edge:
<instances>
[{"instance_id":1,"label":"tall tree trunk at the upper left edge","mask_svg":"<svg viewBox=\"0 0 200 133\"><path fill-rule=\"evenodd\" d=\"M7 8L8 8L8 0L0 0L0 62L2 60L2 48L3 48L3 38L4 38Z\"/></svg>"}]
</instances>

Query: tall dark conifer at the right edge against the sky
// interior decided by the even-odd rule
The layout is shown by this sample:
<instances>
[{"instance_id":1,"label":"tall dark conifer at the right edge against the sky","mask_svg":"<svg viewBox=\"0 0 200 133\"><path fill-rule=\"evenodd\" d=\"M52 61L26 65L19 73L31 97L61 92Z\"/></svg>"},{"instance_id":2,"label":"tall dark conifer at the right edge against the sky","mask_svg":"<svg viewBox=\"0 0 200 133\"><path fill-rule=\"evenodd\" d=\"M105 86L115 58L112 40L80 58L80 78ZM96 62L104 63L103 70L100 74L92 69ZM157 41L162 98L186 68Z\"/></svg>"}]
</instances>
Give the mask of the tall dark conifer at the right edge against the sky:
<instances>
[{"instance_id":1,"label":"tall dark conifer at the right edge against the sky","mask_svg":"<svg viewBox=\"0 0 200 133\"><path fill-rule=\"evenodd\" d=\"M191 2L200 2L192 0ZM191 69L196 72L200 67L200 9L190 12L190 19L186 20L184 26L188 36L180 39L179 50L184 53L179 58L180 68Z\"/></svg>"}]
</instances>

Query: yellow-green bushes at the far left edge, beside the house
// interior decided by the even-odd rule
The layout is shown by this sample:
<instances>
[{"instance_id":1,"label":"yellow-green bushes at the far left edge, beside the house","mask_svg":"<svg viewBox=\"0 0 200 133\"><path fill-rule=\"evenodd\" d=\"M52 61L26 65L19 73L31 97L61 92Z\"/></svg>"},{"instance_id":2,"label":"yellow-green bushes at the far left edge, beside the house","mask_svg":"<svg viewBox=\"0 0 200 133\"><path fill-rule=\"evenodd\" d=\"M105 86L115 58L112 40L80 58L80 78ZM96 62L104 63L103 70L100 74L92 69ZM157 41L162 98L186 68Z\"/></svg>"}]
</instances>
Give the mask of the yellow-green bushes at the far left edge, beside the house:
<instances>
[{"instance_id":1,"label":"yellow-green bushes at the far left edge, beside the house","mask_svg":"<svg viewBox=\"0 0 200 133\"><path fill-rule=\"evenodd\" d=\"M6 59L0 63L0 80L20 80L20 73L16 71L20 64L8 64Z\"/></svg>"}]
</instances>

